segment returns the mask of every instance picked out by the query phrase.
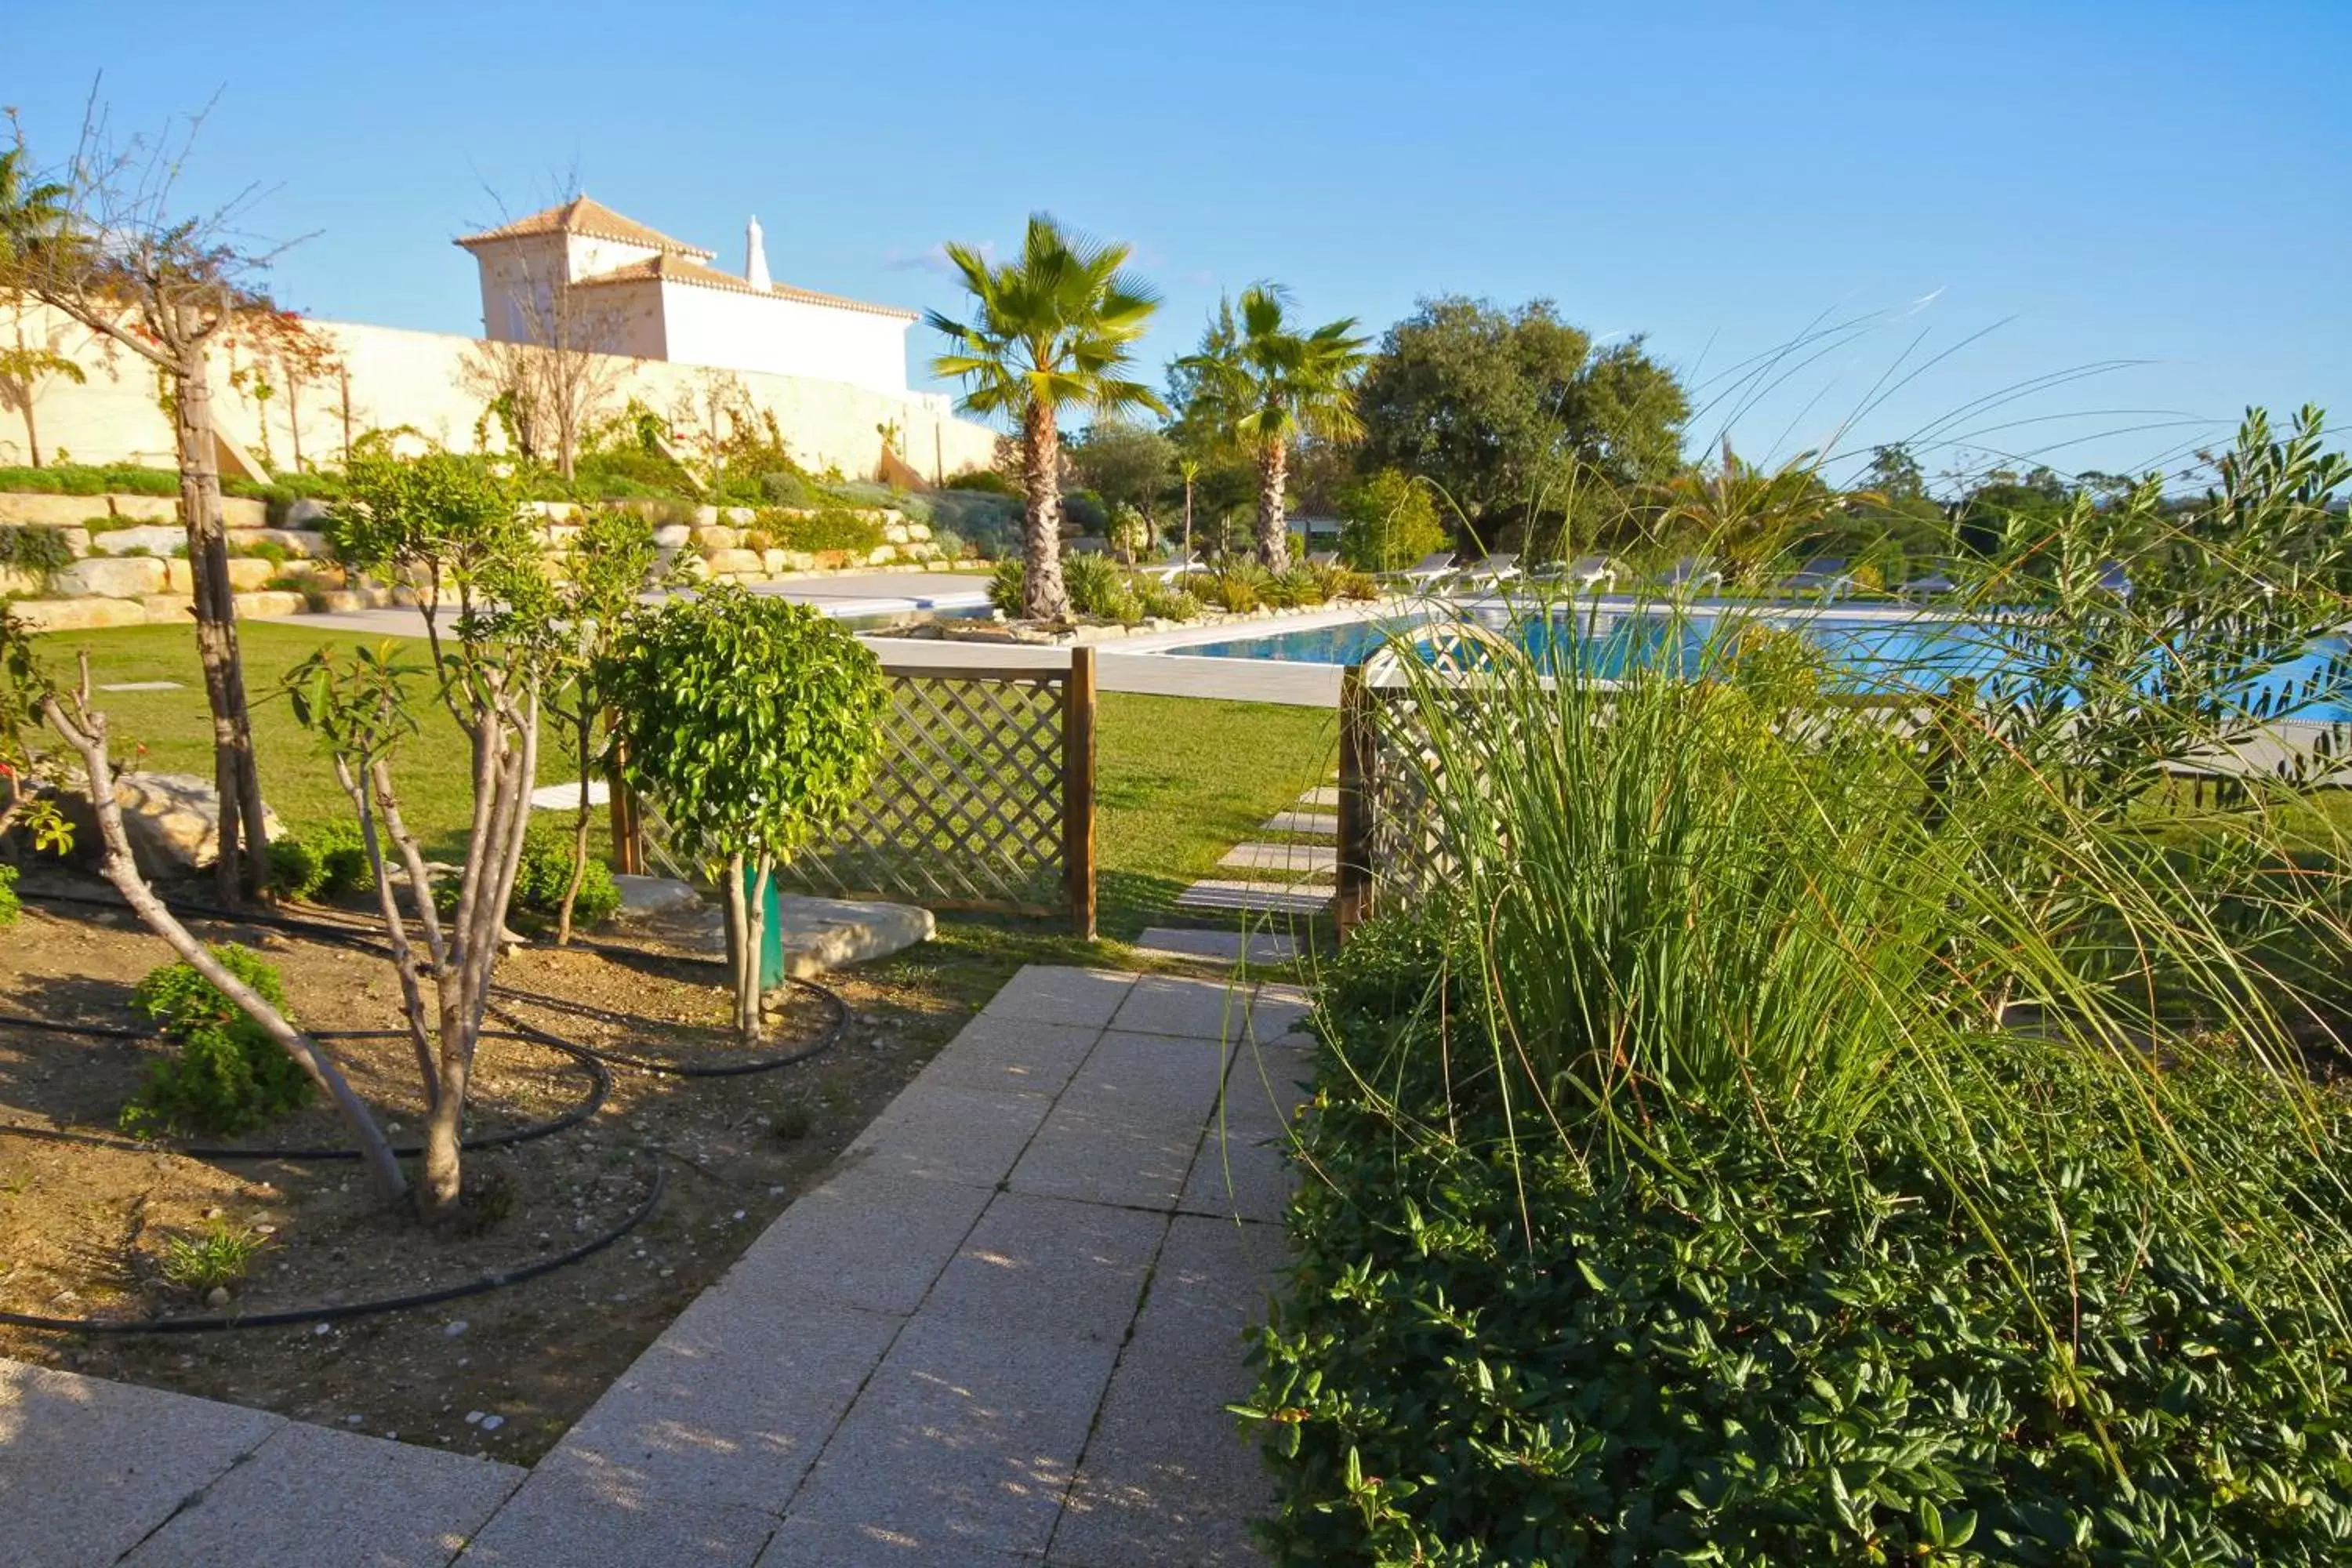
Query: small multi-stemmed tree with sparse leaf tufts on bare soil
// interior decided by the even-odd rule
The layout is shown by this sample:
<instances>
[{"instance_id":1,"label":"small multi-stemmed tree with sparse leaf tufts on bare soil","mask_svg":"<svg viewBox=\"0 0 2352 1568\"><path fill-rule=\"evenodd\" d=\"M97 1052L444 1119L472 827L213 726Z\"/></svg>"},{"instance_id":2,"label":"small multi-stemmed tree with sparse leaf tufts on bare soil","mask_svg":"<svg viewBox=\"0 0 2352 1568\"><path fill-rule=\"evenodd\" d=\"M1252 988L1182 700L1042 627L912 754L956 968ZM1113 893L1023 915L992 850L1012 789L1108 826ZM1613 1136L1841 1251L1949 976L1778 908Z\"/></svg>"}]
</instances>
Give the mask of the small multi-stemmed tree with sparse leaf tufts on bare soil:
<instances>
[{"instance_id":1,"label":"small multi-stemmed tree with sparse leaf tufts on bare soil","mask_svg":"<svg viewBox=\"0 0 2352 1568\"><path fill-rule=\"evenodd\" d=\"M412 684L423 670L386 644L358 649L348 661L320 649L287 672L294 717L325 745L360 818L426 1088L419 1208L437 1218L459 1199L466 1091L522 863L543 691L560 665L564 632L515 487L480 458L362 454L348 470L336 541L353 564L397 564L419 583L437 696L473 752L473 825L456 905L445 922L433 905L423 849L393 788L393 757L416 733ZM442 630L452 602L454 639ZM400 912L386 839L407 870L423 954ZM430 1011L421 976L433 980Z\"/></svg>"}]
</instances>

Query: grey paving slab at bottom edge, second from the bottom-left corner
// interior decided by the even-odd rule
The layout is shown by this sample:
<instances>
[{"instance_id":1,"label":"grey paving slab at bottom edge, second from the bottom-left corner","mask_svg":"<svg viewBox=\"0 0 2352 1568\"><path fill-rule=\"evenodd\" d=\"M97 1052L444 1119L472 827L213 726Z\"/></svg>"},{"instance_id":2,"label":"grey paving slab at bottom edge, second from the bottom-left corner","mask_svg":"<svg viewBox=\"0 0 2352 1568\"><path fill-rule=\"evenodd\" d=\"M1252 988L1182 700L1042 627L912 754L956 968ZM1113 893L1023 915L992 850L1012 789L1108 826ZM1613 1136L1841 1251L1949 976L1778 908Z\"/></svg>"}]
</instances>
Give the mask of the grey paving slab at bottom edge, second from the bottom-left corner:
<instances>
[{"instance_id":1,"label":"grey paving slab at bottom edge, second from the bottom-left corner","mask_svg":"<svg viewBox=\"0 0 2352 1568\"><path fill-rule=\"evenodd\" d=\"M447 1568L527 1474L285 1422L122 1568Z\"/></svg>"}]
</instances>

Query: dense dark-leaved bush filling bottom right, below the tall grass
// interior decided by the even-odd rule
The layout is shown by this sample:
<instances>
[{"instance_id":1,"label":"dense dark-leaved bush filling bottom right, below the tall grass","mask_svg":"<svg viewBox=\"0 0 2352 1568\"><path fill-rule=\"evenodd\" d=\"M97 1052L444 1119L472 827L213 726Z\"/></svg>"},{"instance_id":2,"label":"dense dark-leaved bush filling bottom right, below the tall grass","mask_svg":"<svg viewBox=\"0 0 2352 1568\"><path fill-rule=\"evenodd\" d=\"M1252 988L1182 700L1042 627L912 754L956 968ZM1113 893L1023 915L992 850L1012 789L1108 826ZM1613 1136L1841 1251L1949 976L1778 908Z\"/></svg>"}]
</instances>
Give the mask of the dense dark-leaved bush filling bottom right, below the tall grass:
<instances>
[{"instance_id":1,"label":"dense dark-leaved bush filling bottom right, below the tall grass","mask_svg":"<svg viewBox=\"0 0 2352 1568\"><path fill-rule=\"evenodd\" d=\"M1322 1027L1435 1027L1399 1020L1442 957L1367 929ZM1999 1248L1889 1121L1684 1112L1637 1159L1491 1112L1439 1135L1439 1088L1390 1105L1327 1070L1254 1399L1275 1561L2352 1561L2347 1302L2310 1284L2345 1276L2340 1232L2312 1222L2331 1255L2288 1272L2277 1237L2119 1180L2145 1147L2079 1058L1992 1072L2046 1126L1971 1150ZM2260 1074L2187 1048L2169 1072L2223 1110L2209 1171L2340 1206L2340 1117L2314 1150Z\"/></svg>"}]
</instances>

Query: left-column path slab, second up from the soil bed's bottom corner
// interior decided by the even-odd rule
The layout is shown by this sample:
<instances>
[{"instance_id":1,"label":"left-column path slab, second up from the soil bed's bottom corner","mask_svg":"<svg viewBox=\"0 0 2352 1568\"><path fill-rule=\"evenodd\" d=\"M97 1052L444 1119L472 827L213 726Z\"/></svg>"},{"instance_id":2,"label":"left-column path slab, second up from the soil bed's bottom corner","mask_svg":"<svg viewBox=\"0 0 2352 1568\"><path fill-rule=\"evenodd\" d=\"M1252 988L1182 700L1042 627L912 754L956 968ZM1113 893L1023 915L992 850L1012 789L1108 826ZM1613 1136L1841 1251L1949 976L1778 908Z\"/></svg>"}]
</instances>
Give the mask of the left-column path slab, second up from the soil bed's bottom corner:
<instances>
[{"instance_id":1,"label":"left-column path slab, second up from the soil bed's bottom corner","mask_svg":"<svg viewBox=\"0 0 2352 1568\"><path fill-rule=\"evenodd\" d=\"M854 1166L776 1215L717 1291L906 1316L971 1234L988 1192Z\"/></svg>"}]
</instances>

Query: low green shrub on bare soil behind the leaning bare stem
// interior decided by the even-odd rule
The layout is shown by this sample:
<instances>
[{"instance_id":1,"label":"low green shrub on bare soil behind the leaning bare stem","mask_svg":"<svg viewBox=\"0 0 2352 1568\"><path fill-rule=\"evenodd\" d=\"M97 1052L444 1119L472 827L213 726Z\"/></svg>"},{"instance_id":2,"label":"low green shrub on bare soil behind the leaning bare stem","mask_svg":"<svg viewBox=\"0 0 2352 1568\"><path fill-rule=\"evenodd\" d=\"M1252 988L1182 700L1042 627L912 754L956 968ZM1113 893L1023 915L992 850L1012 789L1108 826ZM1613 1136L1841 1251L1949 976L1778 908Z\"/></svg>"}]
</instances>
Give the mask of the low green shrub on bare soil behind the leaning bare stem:
<instances>
[{"instance_id":1,"label":"low green shrub on bare soil behind the leaning bare stem","mask_svg":"<svg viewBox=\"0 0 2352 1568\"><path fill-rule=\"evenodd\" d=\"M261 954L238 945L214 952L228 973L285 1013L285 985ZM176 1051L148 1065L139 1093L122 1107L125 1131L233 1135L310 1100L310 1079L294 1058L193 964L151 971L139 980L136 1004Z\"/></svg>"}]
</instances>

